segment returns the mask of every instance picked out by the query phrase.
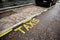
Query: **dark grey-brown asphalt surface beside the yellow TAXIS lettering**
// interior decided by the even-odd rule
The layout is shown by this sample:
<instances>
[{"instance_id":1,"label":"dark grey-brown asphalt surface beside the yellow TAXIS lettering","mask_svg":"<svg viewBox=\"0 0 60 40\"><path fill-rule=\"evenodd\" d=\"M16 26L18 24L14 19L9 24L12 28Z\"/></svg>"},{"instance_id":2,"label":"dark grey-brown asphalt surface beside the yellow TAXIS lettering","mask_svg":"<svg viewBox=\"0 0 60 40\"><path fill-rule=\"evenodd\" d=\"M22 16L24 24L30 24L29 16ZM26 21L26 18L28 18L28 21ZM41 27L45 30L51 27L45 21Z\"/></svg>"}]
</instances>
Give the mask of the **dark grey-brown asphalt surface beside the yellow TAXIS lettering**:
<instances>
[{"instance_id":1,"label":"dark grey-brown asphalt surface beside the yellow TAXIS lettering","mask_svg":"<svg viewBox=\"0 0 60 40\"><path fill-rule=\"evenodd\" d=\"M11 32L1 40L60 40L60 4L36 18L40 22L25 35Z\"/></svg>"}]
</instances>

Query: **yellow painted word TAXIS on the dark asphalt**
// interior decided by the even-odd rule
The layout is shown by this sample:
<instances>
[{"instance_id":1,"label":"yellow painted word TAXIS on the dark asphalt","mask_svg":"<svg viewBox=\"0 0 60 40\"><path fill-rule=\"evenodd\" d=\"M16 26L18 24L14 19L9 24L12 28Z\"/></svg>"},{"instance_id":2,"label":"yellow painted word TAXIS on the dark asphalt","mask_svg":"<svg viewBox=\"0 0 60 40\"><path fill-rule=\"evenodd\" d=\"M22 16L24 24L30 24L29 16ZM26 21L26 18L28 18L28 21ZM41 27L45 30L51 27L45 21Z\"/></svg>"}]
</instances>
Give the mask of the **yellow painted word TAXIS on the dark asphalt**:
<instances>
[{"instance_id":1,"label":"yellow painted word TAXIS on the dark asphalt","mask_svg":"<svg viewBox=\"0 0 60 40\"><path fill-rule=\"evenodd\" d=\"M19 26L18 28L14 29L14 31L20 31L21 33L25 34L26 32L22 29L23 27L29 31L29 29L33 28L34 25L36 25L40 20L37 18L32 18L29 21L26 21L25 23L23 23L22 26Z\"/></svg>"}]
</instances>

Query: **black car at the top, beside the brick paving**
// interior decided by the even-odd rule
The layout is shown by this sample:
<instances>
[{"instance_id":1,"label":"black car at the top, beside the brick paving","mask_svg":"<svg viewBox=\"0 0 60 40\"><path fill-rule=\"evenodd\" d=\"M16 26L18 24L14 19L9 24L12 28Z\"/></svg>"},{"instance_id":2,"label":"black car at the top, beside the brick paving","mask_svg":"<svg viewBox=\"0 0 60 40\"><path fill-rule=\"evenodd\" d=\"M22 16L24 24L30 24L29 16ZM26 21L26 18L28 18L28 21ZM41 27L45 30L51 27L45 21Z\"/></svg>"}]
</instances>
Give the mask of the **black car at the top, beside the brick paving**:
<instances>
[{"instance_id":1,"label":"black car at the top, beside the brick paving","mask_svg":"<svg viewBox=\"0 0 60 40\"><path fill-rule=\"evenodd\" d=\"M57 0L35 0L36 5L50 7L52 5L55 5Z\"/></svg>"}]
</instances>

